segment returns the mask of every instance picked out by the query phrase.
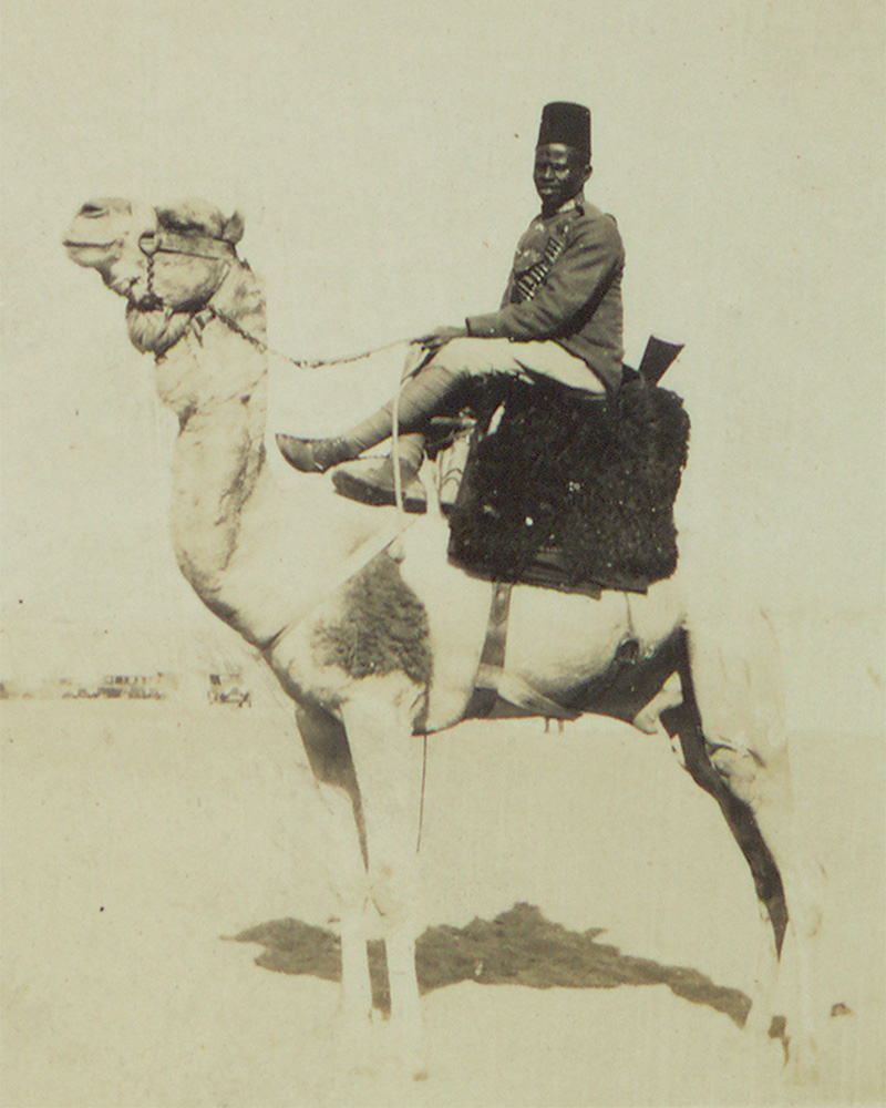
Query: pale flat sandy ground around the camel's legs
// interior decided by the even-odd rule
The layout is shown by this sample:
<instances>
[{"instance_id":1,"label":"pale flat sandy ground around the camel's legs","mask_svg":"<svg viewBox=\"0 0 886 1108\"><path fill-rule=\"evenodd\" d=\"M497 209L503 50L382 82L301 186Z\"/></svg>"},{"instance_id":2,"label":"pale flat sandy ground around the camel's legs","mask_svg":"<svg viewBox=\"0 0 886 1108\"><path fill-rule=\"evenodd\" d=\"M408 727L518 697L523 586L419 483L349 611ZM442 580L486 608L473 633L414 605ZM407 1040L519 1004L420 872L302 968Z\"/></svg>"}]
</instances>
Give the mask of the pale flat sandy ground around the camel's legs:
<instances>
[{"instance_id":1,"label":"pale flat sandy ground around the camel's legs","mask_svg":"<svg viewBox=\"0 0 886 1108\"><path fill-rule=\"evenodd\" d=\"M801 735L794 779L830 882L821 1074L779 1074L722 1013L664 985L464 982L424 1001L431 1076L350 1076L337 986L226 941L334 912L293 729L251 709L7 701L2 1105L877 1102L884 1084L884 742ZM750 876L660 740L602 721L463 726L430 742L429 923L515 902L625 954L748 991ZM833 1004L849 1013L831 1017Z\"/></svg>"}]
</instances>

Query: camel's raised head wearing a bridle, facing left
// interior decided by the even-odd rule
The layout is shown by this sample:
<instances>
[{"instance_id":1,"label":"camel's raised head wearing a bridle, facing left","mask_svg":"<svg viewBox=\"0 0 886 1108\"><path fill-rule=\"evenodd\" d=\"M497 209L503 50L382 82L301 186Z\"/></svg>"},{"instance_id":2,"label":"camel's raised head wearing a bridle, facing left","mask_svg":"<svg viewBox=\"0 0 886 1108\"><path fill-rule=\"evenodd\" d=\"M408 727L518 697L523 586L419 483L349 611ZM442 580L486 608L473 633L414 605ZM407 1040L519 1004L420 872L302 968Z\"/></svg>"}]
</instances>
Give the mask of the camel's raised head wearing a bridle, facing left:
<instances>
[{"instance_id":1,"label":"camel's raised head wearing a bridle, facing left","mask_svg":"<svg viewBox=\"0 0 886 1108\"><path fill-rule=\"evenodd\" d=\"M84 204L63 242L73 261L126 297L135 346L161 353L171 315L203 307L238 264L243 230L238 213L225 219L206 201L151 208L111 197Z\"/></svg>"}]
</instances>

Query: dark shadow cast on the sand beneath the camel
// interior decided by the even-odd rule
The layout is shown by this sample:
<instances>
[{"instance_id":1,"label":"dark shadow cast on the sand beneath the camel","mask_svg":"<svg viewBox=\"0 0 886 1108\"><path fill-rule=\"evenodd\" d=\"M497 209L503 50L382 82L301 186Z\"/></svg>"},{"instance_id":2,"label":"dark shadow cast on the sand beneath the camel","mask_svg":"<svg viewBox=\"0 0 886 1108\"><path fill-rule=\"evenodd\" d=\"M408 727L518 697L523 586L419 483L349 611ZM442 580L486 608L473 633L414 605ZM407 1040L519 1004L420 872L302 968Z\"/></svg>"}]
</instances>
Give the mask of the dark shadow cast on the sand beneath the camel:
<instances>
[{"instance_id":1,"label":"dark shadow cast on the sand beneath the camel","mask_svg":"<svg viewBox=\"0 0 886 1108\"><path fill-rule=\"evenodd\" d=\"M515 904L492 922L473 920L466 927L429 927L416 944L419 987L422 993L431 993L462 981L532 988L667 985L677 996L708 1005L739 1027L744 1026L751 1002L740 989L715 985L698 970L622 954L616 946L596 942L601 933L600 927L567 931L530 904ZM262 945L265 950L255 961L266 970L341 979L340 942L331 931L298 920L275 920L231 937ZM388 1012L388 972L381 942L369 943L369 960L373 1003Z\"/></svg>"}]
</instances>

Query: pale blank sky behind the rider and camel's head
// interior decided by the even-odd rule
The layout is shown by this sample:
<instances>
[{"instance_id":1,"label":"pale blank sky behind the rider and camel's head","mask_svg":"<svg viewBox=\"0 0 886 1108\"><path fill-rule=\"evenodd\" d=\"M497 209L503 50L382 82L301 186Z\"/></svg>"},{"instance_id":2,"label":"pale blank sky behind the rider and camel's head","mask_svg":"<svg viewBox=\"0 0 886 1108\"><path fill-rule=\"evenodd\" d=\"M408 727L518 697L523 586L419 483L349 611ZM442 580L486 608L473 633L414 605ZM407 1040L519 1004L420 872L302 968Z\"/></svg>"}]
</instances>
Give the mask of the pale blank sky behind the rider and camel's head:
<instances>
[{"instance_id":1,"label":"pale blank sky behind the rider and camel's head","mask_svg":"<svg viewBox=\"0 0 886 1108\"><path fill-rule=\"evenodd\" d=\"M61 248L76 208L238 206L275 346L362 350L497 305L536 209L538 113L566 99L591 107L588 197L626 243L627 360L650 332L686 342L666 378L693 419L686 557L773 613L794 718L879 724L883 17L6 0L3 674L238 650L174 566L173 430L123 302ZM274 373L295 410L303 382ZM340 403L332 423L356 414Z\"/></svg>"}]
</instances>

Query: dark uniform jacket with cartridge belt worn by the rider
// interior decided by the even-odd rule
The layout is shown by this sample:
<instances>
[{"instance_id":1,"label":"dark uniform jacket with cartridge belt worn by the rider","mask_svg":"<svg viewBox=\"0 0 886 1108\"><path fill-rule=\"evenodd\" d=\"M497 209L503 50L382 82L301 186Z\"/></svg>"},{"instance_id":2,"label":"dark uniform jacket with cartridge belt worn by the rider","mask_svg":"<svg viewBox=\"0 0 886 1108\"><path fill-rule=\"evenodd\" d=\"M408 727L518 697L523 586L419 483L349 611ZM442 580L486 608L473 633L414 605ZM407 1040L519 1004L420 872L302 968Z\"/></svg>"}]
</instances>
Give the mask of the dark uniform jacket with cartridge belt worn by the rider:
<instances>
[{"instance_id":1,"label":"dark uniform jacket with cartridge belt worn by the rider","mask_svg":"<svg viewBox=\"0 0 886 1108\"><path fill-rule=\"evenodd\" d=\"M621 382L621 274L616 220L578 196L537 216L517 244L498 311L470 316L468 335L517 342L554 339L607 389Z\"/></svg>"}]
</instances>

